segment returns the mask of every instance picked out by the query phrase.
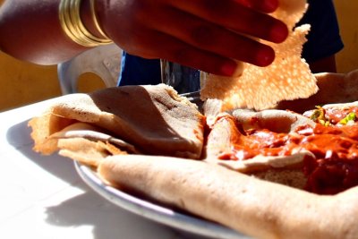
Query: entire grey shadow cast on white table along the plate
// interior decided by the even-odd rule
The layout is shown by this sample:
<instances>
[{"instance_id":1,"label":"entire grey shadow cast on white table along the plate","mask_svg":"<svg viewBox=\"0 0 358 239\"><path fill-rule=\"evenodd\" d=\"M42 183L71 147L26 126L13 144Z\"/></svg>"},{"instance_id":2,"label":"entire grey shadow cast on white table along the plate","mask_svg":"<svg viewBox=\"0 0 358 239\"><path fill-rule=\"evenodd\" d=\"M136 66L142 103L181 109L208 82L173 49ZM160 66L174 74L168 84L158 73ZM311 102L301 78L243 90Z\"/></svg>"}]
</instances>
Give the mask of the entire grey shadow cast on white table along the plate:
<instances>
[{"instance_id":1,"label":"entire grey shadow cast on white table along the plate","mask_svg":"<svg viewBox=\"0 0 358 239\"><path fill-rule=\"evenodd\" d=\"M72 159L61 157L56 153L50 157L42 156L32 150L33 143L30 139L28 121L14 124L9 128L6 132L6 139L29 160L66 183L84 191L59 205L47 207L46 220L51 225L73 228L93 226L93 238L113 238L114 235L125 239L141 239L143 235L146 235L146 239L157 239L158 235L171 239L207 238L169 226L161 226L157 222L142 218L105 200L81 181ZM106 215L106 217L98 217L98 210L101 210L100 214ZM153 230L156 234L153 234Z\"/></svg>"}]
</instances>

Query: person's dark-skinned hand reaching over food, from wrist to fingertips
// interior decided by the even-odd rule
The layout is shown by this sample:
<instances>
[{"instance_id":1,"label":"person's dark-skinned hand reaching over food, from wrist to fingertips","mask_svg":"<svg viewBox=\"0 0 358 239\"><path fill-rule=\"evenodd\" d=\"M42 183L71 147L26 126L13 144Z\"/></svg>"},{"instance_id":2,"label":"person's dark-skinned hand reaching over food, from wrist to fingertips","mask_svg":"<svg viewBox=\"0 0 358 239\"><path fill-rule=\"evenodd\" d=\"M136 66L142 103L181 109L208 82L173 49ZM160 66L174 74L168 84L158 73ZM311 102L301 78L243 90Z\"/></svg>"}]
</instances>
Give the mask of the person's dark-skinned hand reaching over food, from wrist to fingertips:
<instances>
[{"instance_id":1,"label":"person's dark-skinned hand reaching over food, from wrist to fingertips","mask_svg":"<svg viewBox=\"0 0 358 239\"><path fill-rule=\"evenodd\" d=\"M125 51L208 73L232 75L236 61L271 64L288 30L267 13L277 0L117 0L98 2L107 35Z\"/></svg>"}]
</instances>

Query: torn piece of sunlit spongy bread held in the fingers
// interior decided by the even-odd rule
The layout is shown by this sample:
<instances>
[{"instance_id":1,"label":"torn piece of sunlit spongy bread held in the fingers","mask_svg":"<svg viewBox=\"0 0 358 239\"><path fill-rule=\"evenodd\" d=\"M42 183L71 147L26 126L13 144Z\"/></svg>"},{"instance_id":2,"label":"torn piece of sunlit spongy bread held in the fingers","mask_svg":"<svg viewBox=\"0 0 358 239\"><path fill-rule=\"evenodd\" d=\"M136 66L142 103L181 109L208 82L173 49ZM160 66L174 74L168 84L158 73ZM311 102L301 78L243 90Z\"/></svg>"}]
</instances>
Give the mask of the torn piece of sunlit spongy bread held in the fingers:
<instances>
[{"instance_id":1,"label":"torn piece of sunlit spongy bread held in the fingers","mask_svg":"<svg viewBox=\"0 0 358 239\"><path fill-rule=\"evenodd\" d=\"M305 0L281 0L272 15L286 22L290 30L288 38L281 44L260 40L274 48L275 61L267 67L243 64L243 74L239 77L206 74L200 98L223 100L223 110L238 107L261 110L275 107L281 100L308 98L316 93L316 79L301 57L310 25L294 28L307 6Z\"/></svg>"}]
</instances>

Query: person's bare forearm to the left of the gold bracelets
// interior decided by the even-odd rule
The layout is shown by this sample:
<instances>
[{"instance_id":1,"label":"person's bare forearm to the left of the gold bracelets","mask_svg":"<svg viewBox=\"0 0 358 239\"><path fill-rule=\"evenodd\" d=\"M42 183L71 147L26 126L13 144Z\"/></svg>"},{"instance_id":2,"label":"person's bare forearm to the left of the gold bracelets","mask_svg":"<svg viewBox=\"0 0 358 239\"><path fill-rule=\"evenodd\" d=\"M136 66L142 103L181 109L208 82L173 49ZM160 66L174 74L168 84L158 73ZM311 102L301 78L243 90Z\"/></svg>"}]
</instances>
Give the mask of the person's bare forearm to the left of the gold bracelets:
<instances>
[{"instance_id":1,"label":"person's bare forearm to the left of the gold bracelets","mask_svg":"<svg viewBox=\"0 0 358 239\"><path fill-rule=\"evenodd\" d=\"M2 51L36 64L57 64L86 50L64 34L59 2L6 0L0 8Z\"/></svg>"}]
</instances>

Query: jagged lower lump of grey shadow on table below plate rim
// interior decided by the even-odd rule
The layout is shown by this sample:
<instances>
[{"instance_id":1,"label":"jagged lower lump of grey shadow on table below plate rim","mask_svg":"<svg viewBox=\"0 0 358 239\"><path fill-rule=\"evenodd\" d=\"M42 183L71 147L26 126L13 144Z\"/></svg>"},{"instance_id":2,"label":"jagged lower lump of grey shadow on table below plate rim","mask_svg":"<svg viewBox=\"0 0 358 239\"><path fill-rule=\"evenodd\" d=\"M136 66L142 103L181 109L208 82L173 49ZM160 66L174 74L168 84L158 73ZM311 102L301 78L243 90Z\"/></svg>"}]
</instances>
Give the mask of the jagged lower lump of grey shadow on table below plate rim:
<instances>
[{"instance_id":1,"label":"jagged lower lump of grey shadow on table below plate rim","mask_svg":"<svg viewBox=\"0 0 358 239\"><path fill-rule=\"evenodd\" d=\"M102 217L98 217L98 210L101 211ZM98 239L114 236L141 239L144 235L148 239L158 239L158 235L165 238L181 238L172 236L175 233L169 227L160 226L149 219L115 207L91 191L47 208L47 222L55 226L93 226L94 238Z\"/></svg>"}]
</instances>

